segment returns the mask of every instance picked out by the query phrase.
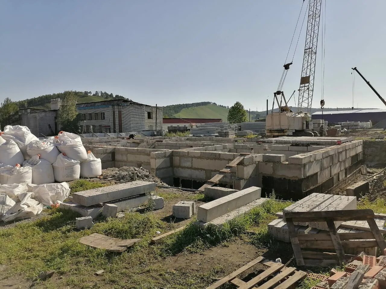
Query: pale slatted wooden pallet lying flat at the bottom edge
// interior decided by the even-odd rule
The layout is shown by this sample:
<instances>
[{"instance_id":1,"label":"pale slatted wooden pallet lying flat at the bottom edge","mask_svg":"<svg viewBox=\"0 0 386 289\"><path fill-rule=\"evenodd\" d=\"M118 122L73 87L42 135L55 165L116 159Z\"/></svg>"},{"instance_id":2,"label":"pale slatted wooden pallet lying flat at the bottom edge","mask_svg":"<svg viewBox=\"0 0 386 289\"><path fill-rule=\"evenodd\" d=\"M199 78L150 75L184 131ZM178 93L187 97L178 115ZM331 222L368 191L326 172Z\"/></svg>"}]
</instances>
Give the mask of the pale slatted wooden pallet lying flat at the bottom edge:
<instances>
[{"instance_id":1,"label":"pale slatted wooden pallet lying flat at the bottom edge","mask_svg":"<svg viewBox=\"0 0 386 289\"><path fill-rule=\"evenodd\" d=\"M267 265L268 269L249 281L242 281L237 278L239 274L247 271L256 264ZM207 289L218 288L227 282L234 284L239 289L287 289L292 288L292 286L296 285L298 281L304 279L306 276L306 272L297 271L294 267L286 267L284 264L266 260L264 257L257 257L228 276L210 285Z\"/></svg>"}]
</instances>

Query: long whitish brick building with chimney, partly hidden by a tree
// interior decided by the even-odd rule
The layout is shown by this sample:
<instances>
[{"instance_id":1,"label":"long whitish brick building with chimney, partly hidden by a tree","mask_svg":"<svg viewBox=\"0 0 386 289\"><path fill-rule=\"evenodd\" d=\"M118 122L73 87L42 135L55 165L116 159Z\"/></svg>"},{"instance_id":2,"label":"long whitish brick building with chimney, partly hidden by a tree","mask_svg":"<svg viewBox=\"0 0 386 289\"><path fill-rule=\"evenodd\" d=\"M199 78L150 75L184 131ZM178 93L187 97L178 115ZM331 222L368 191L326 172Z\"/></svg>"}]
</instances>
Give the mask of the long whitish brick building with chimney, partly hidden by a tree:
<instances>
[{"instance_id":1,"label":"long whitish brick building with chimney, partly hidden by a tree","mask_svg":"<svg viewBox=\"0 0 386 289\"><path fill-rule=\"evenodd\" d=\"M51 108L60 101L51 100ZM81 116L81 133L125 133L162 131L162 107L149 106L127 99L112 99L76 104ZM60 129L56 122L58 109L30 111L20 109L20 124L28 126L36 136L51 136Z\"/></svg>"}]
</instances>

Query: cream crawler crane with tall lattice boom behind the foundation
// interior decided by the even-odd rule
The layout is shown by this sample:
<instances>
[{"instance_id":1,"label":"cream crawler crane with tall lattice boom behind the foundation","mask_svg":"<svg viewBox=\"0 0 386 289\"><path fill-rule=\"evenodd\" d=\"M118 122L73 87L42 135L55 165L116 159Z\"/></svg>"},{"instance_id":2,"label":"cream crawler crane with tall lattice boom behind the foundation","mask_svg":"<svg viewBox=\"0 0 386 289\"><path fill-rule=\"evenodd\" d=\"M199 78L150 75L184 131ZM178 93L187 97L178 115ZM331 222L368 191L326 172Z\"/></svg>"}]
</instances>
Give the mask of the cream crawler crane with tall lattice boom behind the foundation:
<instances>
[{"instance_id":1,"label":"cream crawler crane with tall lattice boom behind the foundation","mask_svg":"<svg viewBox=\"0 0 386 289\"><path fill-rule=\"evenodd\" d=\"M304 3L304 0L303 0ZM303 7L303 6L302 6ZM317 136L317 133L312 131L312 118L310 114L313 86L315 79L315 64L318 46L318 33L320 23L320 10L322 0L309 0L308 2L308 18L306 30L306 42L303 55L303 67L301 69L298 111L292 112L288 108L288 102L281 91L285 76L288 72L292 61L284 64L284 71L279 82L276 92L274 92L274 102L276 100L279 111L274 113L273 107L271 114L266 118L266 134L271 136ZM300 10L301 11L301 10ZM300 13L299 13L300 16ZM299 18L298 18L299 21ZM303 26L303 25L302 25ZM296 24L297 27L297 24ZM295 31L296 31L295 27ZM295 32L294 32L295 35ZM292 44L292 40L291 40ZM291 45L290 45L291 48ZM289 51L289 50L288 50ZM295 47L296 51L296 47ZM295 52L294 52L295 55ZM288 57L288 54L287 54ZM287 59L286 59L287 61ZM280 97L280 100L279 100ZM281 104L284 101L284 106ZM274 103L273 103L274 106Z\"/></svg>"}]
</instances>

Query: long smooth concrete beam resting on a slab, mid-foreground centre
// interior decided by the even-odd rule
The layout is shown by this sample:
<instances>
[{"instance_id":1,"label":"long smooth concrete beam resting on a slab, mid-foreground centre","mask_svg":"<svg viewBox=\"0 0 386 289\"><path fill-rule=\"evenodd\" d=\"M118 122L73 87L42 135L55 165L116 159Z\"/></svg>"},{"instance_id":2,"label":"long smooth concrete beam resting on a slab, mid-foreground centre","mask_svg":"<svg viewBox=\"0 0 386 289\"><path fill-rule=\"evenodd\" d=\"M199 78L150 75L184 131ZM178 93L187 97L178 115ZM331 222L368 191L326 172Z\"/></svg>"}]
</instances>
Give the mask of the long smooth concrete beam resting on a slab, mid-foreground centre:
<instances>
[{"instance_id":1,"label":"long smooth concrete beam resting on a slab, mid-foreground centre","mask_svg":"<svg viewBox=\"0 0 386 289\"><path fill-rule=\"evenodd\" d=\"M250 187L239 192L232 193L228 196L219 198L198 207L197 220L210 222L226 213L229 213L247 203L259 199L261 188Z\"/></svg>"}]
</instances>

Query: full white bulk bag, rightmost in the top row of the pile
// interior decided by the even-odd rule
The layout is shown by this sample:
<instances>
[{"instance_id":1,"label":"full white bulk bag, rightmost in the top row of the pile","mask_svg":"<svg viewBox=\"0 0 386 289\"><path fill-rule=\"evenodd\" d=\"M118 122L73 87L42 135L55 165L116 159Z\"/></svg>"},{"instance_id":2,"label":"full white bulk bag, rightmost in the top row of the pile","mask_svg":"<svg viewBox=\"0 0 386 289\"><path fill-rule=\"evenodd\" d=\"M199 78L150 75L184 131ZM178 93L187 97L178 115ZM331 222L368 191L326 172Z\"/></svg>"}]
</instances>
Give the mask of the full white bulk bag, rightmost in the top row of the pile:
<instances>
[{"instance_id":1,"label":"full white bulk bag, rightmost in the top row of the pile","mask_svg":"<svg viewBox=\"0 0 386 289\"><path fill-rule=\"evenodd\" d=\"M77 161L86 161L87 152L82 144L80 136L74 133L66 133L60 131L57 137L58 141L54 141L58 150L65 153L69 158Z\"/></svg>"}]
</instances>

